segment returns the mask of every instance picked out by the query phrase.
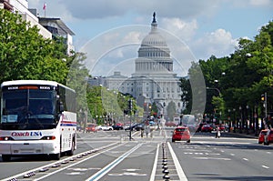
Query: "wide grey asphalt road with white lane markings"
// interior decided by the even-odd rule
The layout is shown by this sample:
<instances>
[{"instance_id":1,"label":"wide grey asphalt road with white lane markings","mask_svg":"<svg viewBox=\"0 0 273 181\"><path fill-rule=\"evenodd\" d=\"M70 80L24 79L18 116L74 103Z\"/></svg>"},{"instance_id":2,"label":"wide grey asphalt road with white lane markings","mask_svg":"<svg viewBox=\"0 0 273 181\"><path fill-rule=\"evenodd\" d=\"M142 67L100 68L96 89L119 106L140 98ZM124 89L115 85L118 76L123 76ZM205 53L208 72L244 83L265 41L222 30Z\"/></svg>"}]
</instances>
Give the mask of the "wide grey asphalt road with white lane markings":
<instances>
[{"instance_id":1,"label":"wide grey asphalt road with white lane markings","mask_svg":"<svg viewBox=\"0 0 273 181\"><path fill-rule=\"evenodd\" d=\"M0 158L0 179L273 180L273 146L225 133L220 138L197 133L189 144L171 143L171 130L144 137L134 132L131 141L123 130L79 133L75 156L62 156L57 162L44 157L13 158L11 162Z\"/></svg>"}]
</instances>

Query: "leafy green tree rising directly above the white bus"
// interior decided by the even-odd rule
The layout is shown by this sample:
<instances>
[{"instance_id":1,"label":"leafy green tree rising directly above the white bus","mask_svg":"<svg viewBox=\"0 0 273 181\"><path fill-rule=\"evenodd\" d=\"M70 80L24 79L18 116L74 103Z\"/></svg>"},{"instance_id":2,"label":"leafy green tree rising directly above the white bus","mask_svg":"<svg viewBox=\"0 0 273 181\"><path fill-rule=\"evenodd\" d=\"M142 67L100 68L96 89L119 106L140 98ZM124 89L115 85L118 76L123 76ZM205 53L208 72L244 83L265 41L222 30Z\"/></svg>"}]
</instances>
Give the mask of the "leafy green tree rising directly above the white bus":
<instances>
[{"instance_id":1,"label":"leafy green tree rising directly above the white bus","mask_svg":"<svg viewBox=\"0 0 273 181\"><path fill-rule=\"evenodd\" d=\"M0 9L0 82L45 79L64 83L68 67L64 45L45 39L19 14Z\"/></svg>"}]
</instances>

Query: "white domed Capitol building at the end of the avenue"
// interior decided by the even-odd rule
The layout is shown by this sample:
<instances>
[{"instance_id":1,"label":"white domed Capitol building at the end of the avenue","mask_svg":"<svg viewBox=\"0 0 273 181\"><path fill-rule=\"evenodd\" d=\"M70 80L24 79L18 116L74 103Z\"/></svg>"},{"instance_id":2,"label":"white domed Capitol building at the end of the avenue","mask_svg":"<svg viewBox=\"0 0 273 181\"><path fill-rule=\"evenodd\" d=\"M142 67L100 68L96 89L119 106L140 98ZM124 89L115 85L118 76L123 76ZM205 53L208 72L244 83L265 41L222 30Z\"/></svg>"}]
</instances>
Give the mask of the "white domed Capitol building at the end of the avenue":
<instances>
[{"instance_id":1,"label":"white domed Capitol building at the end of the avenue","mask_svg":"<svg viewBox=\"0 0 273 181\"><path fill-rule=\"evenodd\" d=\"M104 77L104 86L136 98L138 106L156 103L161 114L166 115L167 106L173 102L177 114L183 110L180 81L174 73L173 60L165 38L157 29L154 14L151 30L142 40L135 60L135 72L130 76L115 72Z\"/></svg>"}]
</instances>

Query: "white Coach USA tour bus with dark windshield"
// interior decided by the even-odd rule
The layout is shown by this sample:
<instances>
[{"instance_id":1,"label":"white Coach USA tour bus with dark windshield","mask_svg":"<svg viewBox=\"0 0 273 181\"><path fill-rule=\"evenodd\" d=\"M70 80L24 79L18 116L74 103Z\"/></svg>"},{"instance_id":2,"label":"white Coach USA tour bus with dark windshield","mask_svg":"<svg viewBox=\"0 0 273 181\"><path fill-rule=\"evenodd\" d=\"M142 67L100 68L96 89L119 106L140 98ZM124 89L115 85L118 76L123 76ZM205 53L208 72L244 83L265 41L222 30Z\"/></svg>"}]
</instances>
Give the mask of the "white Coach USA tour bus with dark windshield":
<instances>
[{"instance_id":1,"label":"white Coach USA tour bus with dark windshield","mask_svg":"<svg viewBox=\"0 0 273 181\"><path fill-rule=\"evenodd\" d=\"M60 159L76 149L76 93L45 80L1 85L0 155L46 155Z\"/></svg>"}]
</instances>

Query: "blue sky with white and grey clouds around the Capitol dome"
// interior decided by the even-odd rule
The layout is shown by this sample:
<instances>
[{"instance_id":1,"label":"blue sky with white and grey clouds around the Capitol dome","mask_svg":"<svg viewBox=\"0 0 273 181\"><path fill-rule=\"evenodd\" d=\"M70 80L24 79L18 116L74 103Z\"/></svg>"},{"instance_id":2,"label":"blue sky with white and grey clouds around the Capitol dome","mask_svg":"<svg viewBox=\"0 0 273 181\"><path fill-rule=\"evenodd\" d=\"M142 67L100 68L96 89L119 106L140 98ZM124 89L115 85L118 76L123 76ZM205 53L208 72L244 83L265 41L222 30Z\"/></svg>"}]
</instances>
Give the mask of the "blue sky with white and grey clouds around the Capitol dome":
<instances>
[{"instance_id":1,"label":"blue sky with white and grey clouds around the Capitol dome","mask_svg":"<svg viewBox=\"0 0 273 181\"><path fill-rule=\"evenodd\" d=\"M273 20L273 0L28 0L28 5L39 16L63 20L76 34L76 51L86 54L94 76L134 72L154 12L174 71L182 76L191 62L234 53L239 38L253 40Z\"/></svg>"}]
</instances>

